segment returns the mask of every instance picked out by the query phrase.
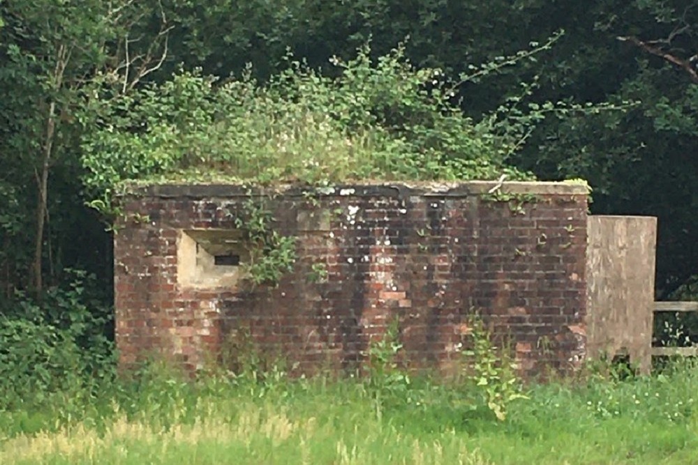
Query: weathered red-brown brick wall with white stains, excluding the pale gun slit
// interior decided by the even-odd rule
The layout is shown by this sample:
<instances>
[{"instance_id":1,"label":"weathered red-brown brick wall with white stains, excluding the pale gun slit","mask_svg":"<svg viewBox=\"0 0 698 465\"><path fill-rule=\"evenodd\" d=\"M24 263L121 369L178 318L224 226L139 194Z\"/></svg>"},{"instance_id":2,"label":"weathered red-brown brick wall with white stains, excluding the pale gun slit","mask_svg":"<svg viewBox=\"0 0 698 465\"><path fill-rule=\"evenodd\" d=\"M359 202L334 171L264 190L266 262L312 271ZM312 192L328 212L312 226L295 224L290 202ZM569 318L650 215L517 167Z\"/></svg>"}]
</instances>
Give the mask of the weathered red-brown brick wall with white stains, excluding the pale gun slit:
<instances>
[{"instance_id":1,"label":"weathered red-brown brick wall with white stains, excluding the pale gun slit","mask_svg":"<svg viewBox=\"0 0 698 465\"><path fill-rule=\"evenodd\" d=\"M397 317L410 365L450 369L479 312L525 374L570 369L585 355L586 188L505 183L535 195L520 211L484 197L493 185L355 185L312 198L282 190L267 207L274 229L297 238L298 259L276 289L178 279L181 231L235 228L245 190L133 190L114 238L121 362L161 352L195 368L253 346L302 372L352 369ZM310 279L313 264L326 279Z\"/></svg>"}]
</instances>

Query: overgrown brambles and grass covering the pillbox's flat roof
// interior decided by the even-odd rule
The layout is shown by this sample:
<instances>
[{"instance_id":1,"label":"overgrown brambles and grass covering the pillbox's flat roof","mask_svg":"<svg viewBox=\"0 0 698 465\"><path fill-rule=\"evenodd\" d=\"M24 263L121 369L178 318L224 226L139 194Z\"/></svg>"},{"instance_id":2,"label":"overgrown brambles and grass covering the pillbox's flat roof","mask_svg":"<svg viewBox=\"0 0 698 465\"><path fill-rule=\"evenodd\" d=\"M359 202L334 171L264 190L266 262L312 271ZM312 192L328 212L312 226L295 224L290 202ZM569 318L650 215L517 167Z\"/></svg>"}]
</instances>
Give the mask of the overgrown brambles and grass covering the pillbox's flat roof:
<instances>
[{"instance_id":1,"label":"overgrown brambles and grass covering the pillbox's flat roof","mask_svg":"<svg viewBox=\"0 0 698 465\"><path fill-rule=\"evenodd\" d=\"M82 158L94 206L133 181L534 178L506 160L540 116L512 101L475 121L441 70L413 67L402 47L370 54L366 45L350 61L332 59L335 77L287 56L266 84L250 68L223 82L181 71L116 103L94 98L100 125Z\"/></svg>"}]
</instances>

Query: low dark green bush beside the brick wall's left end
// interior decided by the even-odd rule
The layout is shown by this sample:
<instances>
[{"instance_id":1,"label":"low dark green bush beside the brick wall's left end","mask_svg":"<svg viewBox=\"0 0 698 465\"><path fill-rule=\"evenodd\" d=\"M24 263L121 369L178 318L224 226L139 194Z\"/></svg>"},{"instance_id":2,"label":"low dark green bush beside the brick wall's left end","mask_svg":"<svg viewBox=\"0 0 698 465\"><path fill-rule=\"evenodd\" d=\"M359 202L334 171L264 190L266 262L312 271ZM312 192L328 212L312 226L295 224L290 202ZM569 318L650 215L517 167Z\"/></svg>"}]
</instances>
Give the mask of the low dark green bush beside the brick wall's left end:
<instances>
[{"instance_id":1,"label":"low dark green bush beside the brick wall's left end","mask_svg":"<svg viewBox=\"0 0 698 465\"><path fill-rule=\"evenodd\" d=\"M40 302L18 294L0 312L0 409L94 390L112 378L112 312L88 291L94 277L71 274L73 280Z\"/></svg>"}]
</instances>

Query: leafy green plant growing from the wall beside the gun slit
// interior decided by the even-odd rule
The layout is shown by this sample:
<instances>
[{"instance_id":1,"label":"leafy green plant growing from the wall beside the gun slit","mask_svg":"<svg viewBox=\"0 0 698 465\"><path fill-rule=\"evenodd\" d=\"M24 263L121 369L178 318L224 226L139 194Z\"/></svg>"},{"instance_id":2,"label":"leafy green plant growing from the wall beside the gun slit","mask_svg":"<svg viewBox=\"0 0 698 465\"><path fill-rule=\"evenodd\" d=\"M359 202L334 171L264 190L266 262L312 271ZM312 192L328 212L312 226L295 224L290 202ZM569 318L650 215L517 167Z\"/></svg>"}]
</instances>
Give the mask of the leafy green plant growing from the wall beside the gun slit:
<instances>
[{"instance_id":1,"label":"leafy green plant growing from the wall beside the gun slit","mask_svg":"<svg viewBox=\"0 0 698 465\"><path fill-rule=\"evenodd\" d=\"M276 287L281 277L293 270L296 261L295 238L274 231L274 221L264 201L255 203L252 198L243 204L243 214L235 218L235 226L244 231L249 244L250 261L244 267L255 286Z\"/></svg>"}]
</instances>

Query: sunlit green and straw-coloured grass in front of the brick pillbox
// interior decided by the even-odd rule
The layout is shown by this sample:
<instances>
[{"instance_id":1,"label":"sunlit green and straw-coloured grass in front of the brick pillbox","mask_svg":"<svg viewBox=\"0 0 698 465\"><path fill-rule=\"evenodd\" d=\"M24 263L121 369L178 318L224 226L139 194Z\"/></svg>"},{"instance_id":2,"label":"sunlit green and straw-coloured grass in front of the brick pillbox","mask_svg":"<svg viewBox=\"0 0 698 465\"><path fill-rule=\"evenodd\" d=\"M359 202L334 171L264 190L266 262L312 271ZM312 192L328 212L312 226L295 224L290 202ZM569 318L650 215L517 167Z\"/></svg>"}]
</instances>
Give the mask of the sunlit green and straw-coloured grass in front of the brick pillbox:
<instances>
[{"instance_id":1,"label":"sunlit green and straw-coloured grass in front of the brick pillbox","mask_svg":"<svg viewBox=\"0 0 698 465\"><path fill-rule=\"evenodd\" d=\"M153 372L0 411L10 464L698 464L698 367L530 386L504 421L468 386Z\"/></svg>"}]
</instances>

